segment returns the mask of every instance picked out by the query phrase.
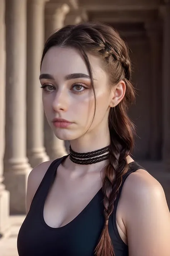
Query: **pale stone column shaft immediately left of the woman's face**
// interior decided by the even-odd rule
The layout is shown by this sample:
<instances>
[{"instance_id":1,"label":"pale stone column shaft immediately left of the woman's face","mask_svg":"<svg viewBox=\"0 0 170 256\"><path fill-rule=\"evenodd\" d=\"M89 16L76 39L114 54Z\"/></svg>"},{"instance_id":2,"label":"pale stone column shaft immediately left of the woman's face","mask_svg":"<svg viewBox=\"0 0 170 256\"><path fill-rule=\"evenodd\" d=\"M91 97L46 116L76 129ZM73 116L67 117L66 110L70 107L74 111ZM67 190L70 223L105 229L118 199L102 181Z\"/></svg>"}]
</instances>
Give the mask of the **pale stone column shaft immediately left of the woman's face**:
<instances>
[{"instance_id":1,"label":"pale stone column shaft immediately left of the woman's face","mask_svg":"<svg viewBox=\"0 0 170 256\"><path fill-rule=\"evenodd\" d=\"M49 160L44 148L44 112L42 91L39 88L45 2L46 0L27 2L27 156L32 167Z\"/></svg>"}]
</instances>

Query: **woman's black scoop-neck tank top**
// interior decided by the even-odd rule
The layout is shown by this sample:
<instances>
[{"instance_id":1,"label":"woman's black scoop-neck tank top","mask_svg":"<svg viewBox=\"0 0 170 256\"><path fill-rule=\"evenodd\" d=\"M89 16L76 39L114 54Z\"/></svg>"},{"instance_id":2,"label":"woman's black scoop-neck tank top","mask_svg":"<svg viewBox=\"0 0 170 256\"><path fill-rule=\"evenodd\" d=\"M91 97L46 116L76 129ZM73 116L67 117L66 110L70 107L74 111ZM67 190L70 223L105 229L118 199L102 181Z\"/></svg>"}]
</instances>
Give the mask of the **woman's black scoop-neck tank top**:
<instances>
[{"instance_id":1,"label":"woman's black scoop-neck tank top","mask_svg":"<svg viewBox=\"0 0 170 256\"><path fill-rule=\"evenodd\" d=\"M19 256L94 256L95 247L104 227L102 189L96 193L84 210L65 226L51 228L44 221L44 203L62 160L63 158L60 158L51 163L34 195L30 210L18 234ZM128 246L118 233L116 210L124 181L129 174L138 169L143 168L137 162L129 163L129 170L123 176L119 194L114 202L113 214L109 218L109 234L115 256L128 256Z\"/></svg>"}]
</instances>

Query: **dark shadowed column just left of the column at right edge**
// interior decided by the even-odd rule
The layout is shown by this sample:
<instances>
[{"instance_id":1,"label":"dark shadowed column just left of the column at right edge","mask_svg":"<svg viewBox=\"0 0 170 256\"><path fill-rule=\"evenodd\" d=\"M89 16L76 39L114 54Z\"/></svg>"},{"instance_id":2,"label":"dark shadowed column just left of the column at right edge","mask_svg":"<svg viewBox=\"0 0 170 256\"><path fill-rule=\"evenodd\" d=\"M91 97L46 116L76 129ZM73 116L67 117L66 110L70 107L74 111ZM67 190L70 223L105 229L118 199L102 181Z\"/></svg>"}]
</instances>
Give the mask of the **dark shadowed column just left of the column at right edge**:
<instances>
[{"instance_id":1,"label":"dark shadowed column just left of the column at right edge","mask_svg":"<svg viewBox=\"0 0 170 256\"><path fill-rule=\"evenodd\" d=\"M151 94L150 116L151 116L151 134L150 134L150 159L159 160L161 147L161 125L160 116L162 113L160 96L161 84L161 33L160 21L148 22L145 24L148 39L150 41L151 53ZM159 104L158 104L159 102Z\"/></svg>"}]
</instances>

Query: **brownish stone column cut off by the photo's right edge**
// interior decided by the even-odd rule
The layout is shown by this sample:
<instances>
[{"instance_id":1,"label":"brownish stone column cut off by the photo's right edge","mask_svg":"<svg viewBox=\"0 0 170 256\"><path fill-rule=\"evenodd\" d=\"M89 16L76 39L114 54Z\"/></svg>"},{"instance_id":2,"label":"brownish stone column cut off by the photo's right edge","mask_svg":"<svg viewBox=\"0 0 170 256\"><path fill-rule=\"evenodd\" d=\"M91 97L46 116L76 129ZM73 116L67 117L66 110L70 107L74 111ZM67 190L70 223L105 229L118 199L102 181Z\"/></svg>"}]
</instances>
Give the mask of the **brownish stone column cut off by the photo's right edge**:
<instances>
[{"instance_id":1,"label":"brownish stone column cut off by the photo's right edge","mask_svg":"<svg viewBox=\"0 0 170 256\"><path fill-rule=\"evenodd\" d=\"M166 1L163 11L163 59L162 90L163 93L163 150L162 157L166 169L170 171L170 1Z\"/></svg>"}]
</instances>

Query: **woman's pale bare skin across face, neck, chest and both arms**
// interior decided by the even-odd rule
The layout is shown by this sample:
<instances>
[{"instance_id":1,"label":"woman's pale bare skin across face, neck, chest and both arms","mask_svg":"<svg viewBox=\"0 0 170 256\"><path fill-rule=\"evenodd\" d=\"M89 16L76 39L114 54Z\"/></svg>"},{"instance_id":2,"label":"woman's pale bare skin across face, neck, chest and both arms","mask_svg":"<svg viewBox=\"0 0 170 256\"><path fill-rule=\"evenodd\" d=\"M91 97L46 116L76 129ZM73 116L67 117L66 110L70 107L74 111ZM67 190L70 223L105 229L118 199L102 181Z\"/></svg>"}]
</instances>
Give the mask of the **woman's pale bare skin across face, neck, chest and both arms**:
<instances>
[{"instance_id":1,"label":"woman's pale bare skin across face, neck, chest and both arms","mask_svg":"<svg viewBox=\"0 0 170 256\"><path fill-rule=\"evenodd\" d=\"M46 53L41 68L41 85L47 85L42 99L49 125L57 138L70 140L77 152L94 151L109 144L109 109L119 104L126 93L124 81L110 89L103 63L91 54L88 57L96 94L92 124L94 94L90 78L68 77L75 73L89 75L81 55L71 48L53 47ZM50 75L50 79L43 74ZM72 124L64 129L56 128L53 118L64 118ZM127 162L132 161L128 156ZM51 162L38 165L29 174L27 212ZM75 219L102 187L105 165L105 161L77 165L69 158L61 163L44 206L47 225L59 228ZM125 181L116 219L119 234L128 244L129 256L170 255L170 212L164 190L147 171L138 170Z\"/></svg>"}]
</instances>

